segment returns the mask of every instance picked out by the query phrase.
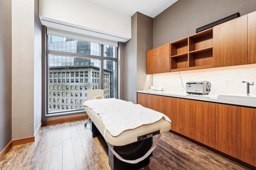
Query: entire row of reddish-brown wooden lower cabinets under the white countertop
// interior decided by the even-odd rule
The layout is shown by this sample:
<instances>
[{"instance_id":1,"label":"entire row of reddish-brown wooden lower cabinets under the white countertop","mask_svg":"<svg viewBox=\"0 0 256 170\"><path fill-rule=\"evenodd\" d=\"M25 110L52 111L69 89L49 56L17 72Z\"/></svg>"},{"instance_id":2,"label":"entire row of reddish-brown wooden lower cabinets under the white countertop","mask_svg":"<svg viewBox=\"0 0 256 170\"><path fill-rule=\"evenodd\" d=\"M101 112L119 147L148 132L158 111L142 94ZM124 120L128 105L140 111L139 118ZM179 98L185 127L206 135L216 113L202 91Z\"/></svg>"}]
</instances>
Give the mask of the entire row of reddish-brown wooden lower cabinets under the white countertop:
<instances>
[{"instance_id":1,"label":"entire row of reddish-brown wooden lower cabinets under the white countertop","mask_svg":"<svg viewBox=\"0 0 256 170\"><path fill-rule=\"evenodd\" d=\"M167 115L172 131L256 166L256 109L142 93L137 103Z\"/></svg>"}]
</instances>

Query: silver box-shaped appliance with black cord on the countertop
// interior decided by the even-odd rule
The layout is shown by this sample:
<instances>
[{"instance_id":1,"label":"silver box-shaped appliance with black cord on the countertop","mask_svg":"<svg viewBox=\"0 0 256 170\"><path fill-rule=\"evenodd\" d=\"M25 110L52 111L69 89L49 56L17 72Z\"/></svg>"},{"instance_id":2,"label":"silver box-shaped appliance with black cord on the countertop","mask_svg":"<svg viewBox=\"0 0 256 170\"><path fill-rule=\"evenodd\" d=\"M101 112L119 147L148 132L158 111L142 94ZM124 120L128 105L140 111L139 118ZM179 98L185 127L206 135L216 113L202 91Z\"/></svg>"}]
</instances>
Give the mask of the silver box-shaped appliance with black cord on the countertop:
<instances>
[{"instance_id":1,"label":"silver box-shaped appliance with black cord on the countertop","mask_svg":"<svg viewBox=\"0 0 256 170\"><path fill-rule=\"evenodd\" d=\"M186 92L188 94L209 94L211 88L210 82L187 82L186 83Z\"/></svg>"}]
</instances>

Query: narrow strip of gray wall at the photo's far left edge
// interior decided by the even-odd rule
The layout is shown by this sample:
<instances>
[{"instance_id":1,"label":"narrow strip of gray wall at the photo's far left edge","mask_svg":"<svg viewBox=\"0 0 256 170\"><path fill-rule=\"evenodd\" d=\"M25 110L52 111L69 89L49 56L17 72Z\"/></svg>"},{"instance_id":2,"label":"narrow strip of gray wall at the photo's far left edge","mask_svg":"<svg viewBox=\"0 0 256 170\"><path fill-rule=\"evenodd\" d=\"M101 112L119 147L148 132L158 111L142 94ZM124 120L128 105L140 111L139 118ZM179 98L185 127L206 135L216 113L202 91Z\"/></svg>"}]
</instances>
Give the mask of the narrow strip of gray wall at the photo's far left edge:
<instances>
[{"instance_id":1,"label":"narrow strip of gray wall at the photo's far left edge","mask_svg":"<svg viewBox=\"0 0 256 170\"><path fill-rule=\"evenodd\" d=\"M0 152L12 140L12 2L0 0Z\"/></svg>"}]
</instances>

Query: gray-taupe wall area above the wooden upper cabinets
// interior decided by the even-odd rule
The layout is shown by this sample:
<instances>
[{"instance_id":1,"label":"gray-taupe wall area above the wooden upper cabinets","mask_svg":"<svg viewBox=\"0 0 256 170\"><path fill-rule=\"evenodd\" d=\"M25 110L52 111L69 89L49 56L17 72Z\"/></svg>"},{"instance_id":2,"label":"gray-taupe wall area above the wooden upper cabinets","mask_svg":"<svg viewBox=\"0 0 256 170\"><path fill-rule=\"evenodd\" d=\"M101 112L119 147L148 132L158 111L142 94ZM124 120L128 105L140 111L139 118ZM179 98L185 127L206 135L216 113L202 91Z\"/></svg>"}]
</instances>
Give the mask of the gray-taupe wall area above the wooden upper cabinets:
<instances>
[{"instance_id":1,"label":"gray-taupe wall area above the wooden upper cabinets","mask_svg":"<svg viewBox=\"0 0 256 170\"><path fill-rule=\"evenodd\" d=\"M256 11L255 0L178 0L154 18L154 48L196 33L196 28L236 12Z\"/></svg>"}]
</instances>

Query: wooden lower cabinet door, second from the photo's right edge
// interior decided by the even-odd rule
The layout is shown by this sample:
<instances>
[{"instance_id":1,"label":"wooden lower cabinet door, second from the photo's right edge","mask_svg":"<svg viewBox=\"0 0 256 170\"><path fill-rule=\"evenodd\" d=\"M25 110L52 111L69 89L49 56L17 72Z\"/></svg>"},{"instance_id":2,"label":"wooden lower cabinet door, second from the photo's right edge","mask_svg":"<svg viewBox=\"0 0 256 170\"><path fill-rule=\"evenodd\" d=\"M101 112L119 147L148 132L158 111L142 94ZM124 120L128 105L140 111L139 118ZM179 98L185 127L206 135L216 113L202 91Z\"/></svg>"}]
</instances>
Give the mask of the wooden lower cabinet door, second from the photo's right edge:
<instances>
[{"instance_id":1,"label":"wooden lower cabinet door, second from the photo's right edge","mask_svg":"<svg viewBox=\"0 0 256 170\"><path fill-rule=\"evenodd\" d=\"M203 104L203 142L238 158L238 106Z\"/></svg>"}]
</instances>

